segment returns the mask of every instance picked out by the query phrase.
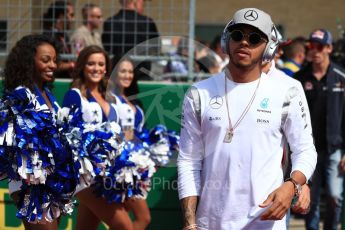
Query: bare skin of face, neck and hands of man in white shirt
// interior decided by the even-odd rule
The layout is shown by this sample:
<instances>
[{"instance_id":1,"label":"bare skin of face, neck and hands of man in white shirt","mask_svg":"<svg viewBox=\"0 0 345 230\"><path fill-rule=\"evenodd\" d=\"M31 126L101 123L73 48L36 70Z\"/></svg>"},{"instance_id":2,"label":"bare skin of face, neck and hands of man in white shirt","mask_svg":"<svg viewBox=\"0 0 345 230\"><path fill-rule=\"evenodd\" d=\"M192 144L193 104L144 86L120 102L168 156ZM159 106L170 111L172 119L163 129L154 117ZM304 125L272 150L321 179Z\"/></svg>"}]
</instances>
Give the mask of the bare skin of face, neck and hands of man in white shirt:
<instances>
[{"instance_id":1,"label":"bare skin of face, neck and hands of man in white shirt","mask_svg":"<svg viewBox=\"0 0 345 230\"><path fill-rule=\"evenodd\" d=\"M251 32L259 32L254 27L241 25L236 29L241 30L244 34ZM256 45L252 45L248 41L248 37L242 41L229 43L230 63L228 71L232 76L232 80L238 83L247 83L257 80L262 72L262 55L267 42L262 40ZM294 171L291 177L297 183L303 185L306 178L300 171ZM259 205L266 208L261 215L261 220L281 220L290 208L292 198L295 194L294 184L285 182L279 188L268 195L267 199ZM195 213L197 207L197 196L190 196L181 200L184 227L195 224ZM197 228L191 228L196 230Z\"/></svg>"}]
</instances>

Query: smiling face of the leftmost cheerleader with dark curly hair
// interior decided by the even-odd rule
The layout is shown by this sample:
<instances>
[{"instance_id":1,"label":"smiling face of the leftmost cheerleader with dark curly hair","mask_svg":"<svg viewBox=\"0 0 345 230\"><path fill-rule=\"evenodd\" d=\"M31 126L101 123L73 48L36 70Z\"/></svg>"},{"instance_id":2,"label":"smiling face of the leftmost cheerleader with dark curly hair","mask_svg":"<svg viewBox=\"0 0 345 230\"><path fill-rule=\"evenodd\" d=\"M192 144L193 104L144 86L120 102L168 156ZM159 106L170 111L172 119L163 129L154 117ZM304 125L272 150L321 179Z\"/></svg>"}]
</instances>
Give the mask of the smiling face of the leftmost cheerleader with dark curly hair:
<instances>
[{"instance_id":1,"label":"smiling face of the leftmost cheerleader with dark curly hair","mask_svg":"<svg viewBox=\"0 0 345 230\"><path fill-rule=\"evenodd\" d=\"M35 83L52 82L56 68L56 51L54 47L48 43L39 45L35 54Z\"/></svg>"}]
</instances>

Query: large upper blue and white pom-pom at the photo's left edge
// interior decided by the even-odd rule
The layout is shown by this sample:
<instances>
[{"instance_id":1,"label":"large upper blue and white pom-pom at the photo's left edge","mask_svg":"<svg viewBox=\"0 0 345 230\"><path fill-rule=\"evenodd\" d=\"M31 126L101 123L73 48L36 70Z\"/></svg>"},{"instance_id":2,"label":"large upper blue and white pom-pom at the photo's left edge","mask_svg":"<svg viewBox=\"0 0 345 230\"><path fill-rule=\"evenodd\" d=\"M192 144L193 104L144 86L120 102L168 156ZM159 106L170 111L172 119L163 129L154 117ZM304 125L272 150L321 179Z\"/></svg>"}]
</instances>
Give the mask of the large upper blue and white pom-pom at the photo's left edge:
<instances>
[{"instance_id":1,"label":"large upper blue and white pom-pom at the photo's left edge","mask_svg":"<svg viewBox=\"0 0 345 230\"><path fill-rule=\"evenodd\" d=\"M58 135L51 112L41 110L35 95L25 88L5 94L0 106L2 178L43 184L54 169L53 152L61 147L46 138ZM6 162L6 157L12 162Z\"/></svg>"}]
</instances>

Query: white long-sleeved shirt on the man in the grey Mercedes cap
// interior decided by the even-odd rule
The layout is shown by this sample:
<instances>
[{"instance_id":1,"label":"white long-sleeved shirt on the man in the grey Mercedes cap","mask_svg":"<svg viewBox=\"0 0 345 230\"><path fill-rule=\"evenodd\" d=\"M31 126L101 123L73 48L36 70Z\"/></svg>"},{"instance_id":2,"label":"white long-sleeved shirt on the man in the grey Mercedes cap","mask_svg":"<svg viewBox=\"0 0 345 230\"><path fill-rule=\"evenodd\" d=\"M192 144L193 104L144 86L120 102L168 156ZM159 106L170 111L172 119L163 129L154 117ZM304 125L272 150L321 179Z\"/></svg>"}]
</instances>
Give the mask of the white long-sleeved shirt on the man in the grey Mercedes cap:
<instances>
[{"instance_id":1,"label":"white long-sleeved shirt on the man in the grey Mercedes cap","mask_svg":"<svg viewBox=\"0 0 345 230\"><path fill-rule=\"evenodd\" d=\"M256 97L224 143L229 128L225 95L234 125L258 81L236 83L225 73L196 83L187 93L178 157L179 198L199 196L198 229L286 229L285 218L261 221L259 207L283 183L284 139L292 171L310 178L316 164L308 106L300 84L262 73Z\"/></svg>"}]
</instances>

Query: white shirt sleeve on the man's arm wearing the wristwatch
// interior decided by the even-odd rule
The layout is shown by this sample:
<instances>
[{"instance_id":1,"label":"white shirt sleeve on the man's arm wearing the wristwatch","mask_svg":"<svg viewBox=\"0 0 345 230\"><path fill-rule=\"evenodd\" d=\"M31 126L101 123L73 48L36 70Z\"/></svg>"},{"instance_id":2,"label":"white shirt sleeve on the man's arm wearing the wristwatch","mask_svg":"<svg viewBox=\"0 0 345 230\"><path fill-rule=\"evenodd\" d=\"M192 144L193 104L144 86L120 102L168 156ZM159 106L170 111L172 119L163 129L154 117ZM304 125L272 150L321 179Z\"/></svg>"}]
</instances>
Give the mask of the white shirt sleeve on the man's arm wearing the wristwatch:
<instances>
[{"instance_id":1,"label":"white shirt sleeve on the man's arm wearing the wristwatch","mask_svg":"<svg viewBox=\"0 0 345 230\"><path fill-rule=\"evenodd\" d=\"M291 87L286 95L283 110L287 117L283 125L289 142L293 171L302 172L308 180L316 166L317 153L314 146L310 113L302 85Z\"/></svg>"}]
</instances>

